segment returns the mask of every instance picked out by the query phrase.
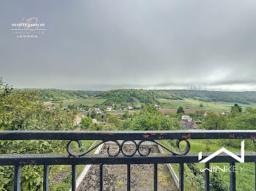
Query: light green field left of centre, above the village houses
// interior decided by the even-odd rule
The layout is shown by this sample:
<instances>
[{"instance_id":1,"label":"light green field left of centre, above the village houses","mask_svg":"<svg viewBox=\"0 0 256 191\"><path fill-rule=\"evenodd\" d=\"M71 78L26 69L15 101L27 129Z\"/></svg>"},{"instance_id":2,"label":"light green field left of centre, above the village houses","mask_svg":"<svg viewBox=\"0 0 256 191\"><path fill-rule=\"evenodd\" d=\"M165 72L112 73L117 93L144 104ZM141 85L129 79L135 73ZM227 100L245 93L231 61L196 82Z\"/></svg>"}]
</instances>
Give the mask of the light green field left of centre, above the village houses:
<instances>
[{"instance_id":1,"label":"light green field left of centre, above the village houses","mask_svg":"<svg viewBox=\"0 0 256 191\"><path fill-rule=\"evenodd\" d=\"M80 104L85 105L85 106L94 106L95 104L103 104L106 101L106 99L78 99L78 100L71 100L71 101L63 101L63 106L68 106L68 105L75 105L79 106ZM58 102L45 102L45 105L56 105L59 106L59 101Z\"/></svg>"}]
</instances>

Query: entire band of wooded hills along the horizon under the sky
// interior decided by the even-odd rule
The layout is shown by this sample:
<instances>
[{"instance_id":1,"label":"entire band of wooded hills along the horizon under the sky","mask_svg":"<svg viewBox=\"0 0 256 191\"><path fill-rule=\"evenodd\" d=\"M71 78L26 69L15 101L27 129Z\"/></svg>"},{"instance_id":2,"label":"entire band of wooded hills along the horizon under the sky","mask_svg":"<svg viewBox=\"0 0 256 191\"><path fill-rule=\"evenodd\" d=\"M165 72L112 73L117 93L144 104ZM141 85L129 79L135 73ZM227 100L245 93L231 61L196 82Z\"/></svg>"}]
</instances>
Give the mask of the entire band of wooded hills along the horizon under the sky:
<instances>
[{"instance_id":1,"label":"entire band of wooded hills along the horizon under the sky","mask_svg":"<svg viewBox=\"0 0 256 191\"><path fill-rule=\"evenodd\" d=\"M198 101L225 101L240 104L256 103L256 92L219 92L206 90L138 90L118 89L108 91L91 90L58 90L58 89L15 89L15 91L37 91L42 101L63 101L100 96L107 99L106 103L132 103L138 101L143 104L159 104L159 98L182 100L192 98Z\"/></svg>"}]
</instances>

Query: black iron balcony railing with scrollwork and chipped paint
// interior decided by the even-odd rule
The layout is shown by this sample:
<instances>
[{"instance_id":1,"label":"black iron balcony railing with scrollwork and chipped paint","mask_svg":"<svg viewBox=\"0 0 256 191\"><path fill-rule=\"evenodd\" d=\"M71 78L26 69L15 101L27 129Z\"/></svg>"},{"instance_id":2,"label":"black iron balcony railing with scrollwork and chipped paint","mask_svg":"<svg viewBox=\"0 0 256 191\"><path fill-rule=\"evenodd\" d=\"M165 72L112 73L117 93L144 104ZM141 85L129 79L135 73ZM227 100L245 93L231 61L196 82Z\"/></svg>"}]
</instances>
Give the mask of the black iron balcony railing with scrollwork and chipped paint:
<instances>
[{"instance_id":1,"label":"black iron balcony railing with scrollwork and chipped paint","mask_svg":"<svg viewBox=\"0 0 256 191\"><path fill-rule=\"evenodd\" d=\"M181 141L186 142L186 148L181 151L173 151L159 143L162 139L176 139L177 147ZM99 190L103 190L103 165L126 164L127 165L127 190L130 190L130 165L131 164L154 164L154 190L157 190L157 164L179 163L179 190L184 190L184 163L198 163L197 153L189 153L189 139L256 139L256 130L178 130L178 131L0 131L0 140L69 140L67 154L2 154L0 165L15 166L15 190L20 190L20 168L23 165L44 165L43 190L48 190L49 165L72 165L72 190L75 190L76 165L99 165ZM72 141L100 140L99 144L91 149L76 153L72 151ZM100 144L113 141L118 145L115 153L108 155L90 155L89 152ZM132 141L135 145L132 152L124 151L124 144ZM140 150L145 141L151 141L167 149L168 154L151 155L148 146L146 152ZM202 159L208 157L209 153L203 153ZM230 163L235 165L238 161L230 155L217 155L208 163ZM255 152L246 153L245 163L255 163ZM210 175L205 171L205 190L209 190ZM256 185L256 184L255 184ZM230 190L236 190L236 172L230 172Z\"/></svg>"}]
</instances>

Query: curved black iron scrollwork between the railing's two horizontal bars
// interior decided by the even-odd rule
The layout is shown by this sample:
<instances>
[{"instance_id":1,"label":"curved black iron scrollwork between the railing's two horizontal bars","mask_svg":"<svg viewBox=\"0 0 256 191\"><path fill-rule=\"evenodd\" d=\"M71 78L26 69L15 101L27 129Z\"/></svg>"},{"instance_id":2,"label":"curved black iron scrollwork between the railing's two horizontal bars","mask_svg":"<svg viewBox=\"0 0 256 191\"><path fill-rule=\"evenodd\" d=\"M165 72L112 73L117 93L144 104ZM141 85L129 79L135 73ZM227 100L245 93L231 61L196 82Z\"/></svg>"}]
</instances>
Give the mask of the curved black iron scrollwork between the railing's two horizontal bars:
<instances>
[{"instance_id":1,"label":"curved black iron scrollwork between the railing's two horizontal bars","mask_svg":"<svg viewBox=\"0 0 256 191\"><path fill-rule=\"evenodd\" d=\"M73 157L82 157L82 156L88 154L89 152L91 152L92 150L96 149L97 147L99 147L99 145L105 144L106 142L115 142L115 143L117 144L117 146L118 146L118 149L117 149L117 151L116 151L115 153L110 153L110 147L108 146L107 152L108 152L108 155L109 155L110 157L116 157L117 155L120 154L120 152L121 152L123 155L127 156L127 157L132 157L133 155L136 154L136 152L138 152L138 153L140 154L140 156L147 156L147 155L149 155L149 153L151 152L151 147L149 147L148 145L146 145L146 147L147 147L147 148L146 148L146 152L143 152L143 151L140 150L140 148L141 148L141 146L142 146L141 144L142 144L143 142L146 142L146 141L151 141L151 142L153 142L153 143L155 143L155 144L158 144L160 147L163 147L163 148L166 149L168 152L171 152L173 155L186 155L186 154L189 152L189 150L190 150L190 143L189 143L189 141L187 141L187 139L178 139L178 140L176 141L176 147L178 147L178 149L180 149L179 146L180 146L181 141L186 141L186 144L187 144L187 145L186 145L186 148L185 148L183 151L181 151L181 152L175 152L175 151L173 151L173 150L171 150L171 149L165 147L165 145L159 143L158 141L154 141L154 140L140 140L140 141L138 141L138 142L136 142L135 140L123 140L123 141L121 142L121 144L120 144L117 140L116 140L116 141L104 141L104 140L103 140L103 141L101 141L99 144L96 144L94 147L91 147L90 149L86 150L85 152L76 153L76 152L73 152L72 149L71 149L70 144L72 143L72 141L74 141L74 140L69 141L69 143L67 144L67 152L69 153L70 156L73 156ZM79 147L82 146L82 141L80 141L80 140L75 140L75 141L78 143L78 146L79 146ZM134 149L132 150L132 152L125 152L125 151L124 151L124 144L125 144L126 142L128 142L128 141L132 141L132 143L135 145L135 147L134 147Z\"/></svg>"}]
</instances>

